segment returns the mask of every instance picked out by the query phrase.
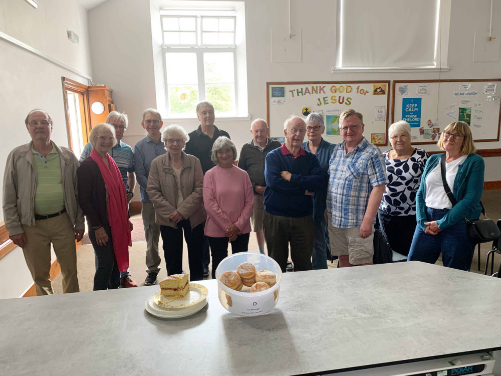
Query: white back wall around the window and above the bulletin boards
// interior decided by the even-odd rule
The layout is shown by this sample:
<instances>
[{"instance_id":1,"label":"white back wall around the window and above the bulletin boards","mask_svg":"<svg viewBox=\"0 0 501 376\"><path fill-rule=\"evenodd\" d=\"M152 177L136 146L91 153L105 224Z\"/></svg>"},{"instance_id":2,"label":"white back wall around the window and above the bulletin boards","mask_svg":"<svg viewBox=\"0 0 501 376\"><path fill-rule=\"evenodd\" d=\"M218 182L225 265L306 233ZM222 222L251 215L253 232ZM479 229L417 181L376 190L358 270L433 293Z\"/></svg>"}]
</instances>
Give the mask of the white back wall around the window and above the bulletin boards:
<instances>
[{"instance_id":1,"label":"white back wall around the window and above the bulletin boards","mask_svg":"<svg viewBox=\"0 0 501 376\"><path fill-rule=\"evenodd\" d=\"M497 20L501 19L501 4L494 3L493 32L499 34L501 25L498 25ZM157 97L157 93L161 96L164 91L159 87L163 86L163 72L158 68L155 72L152 63L153 54L158 52L158 43L155 43L156 38L151 36L151 20L148 20L151 17L155 23L158 4L161 4L161 0L108 0L89 12L94 78L102 80L102 83L114 89L115 103L120 110L129 114L131 126L124 141L131 146L145 135L140 126L142 110L163 100ZM472 62L473 33L475 30L485 31L485 28L488 28L489 0L452 2L448 45L448 62L451 69L449 72L442 72L440 76L438 72L331 73L336 56L336 2L330 0L292 0L292 34L302 33L302 61L272 63L271 30L288 37L288 4L288 0L245 0L248 111L253 118L266 118L267 81L364 80L376 77L381 80L501 77L499 62ZM108 24L103 20L108 20ZM117 27L118 20L127 26L126 30ZM391 19L386 21L391 22ZM115 46L106 46L106 41L101 38L104 33L111 34ZM130 51L134 51L134 54ZM108 62L113 59L120 60L121 64L110 66ZM175 121L164 119L165 124L174 122L188 131L198 125L195 117ZM248 118L222 119L217 118L216 114L216 125L230 133L238 149L250 137L249 124ZM477 147L501 148L501 142L482 142ZM436 150L434 145L426 145L425 148ZM499 162L501 157L486 158L485 180L501 180L501 169L497 168Z\"/></svg>"}]
</instances>

